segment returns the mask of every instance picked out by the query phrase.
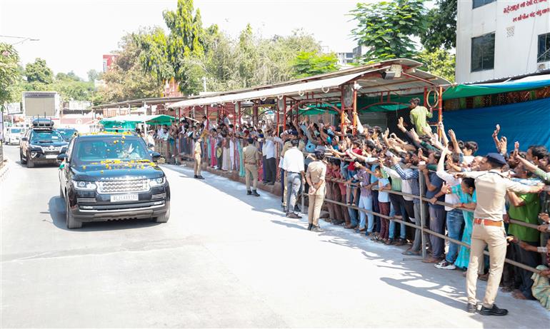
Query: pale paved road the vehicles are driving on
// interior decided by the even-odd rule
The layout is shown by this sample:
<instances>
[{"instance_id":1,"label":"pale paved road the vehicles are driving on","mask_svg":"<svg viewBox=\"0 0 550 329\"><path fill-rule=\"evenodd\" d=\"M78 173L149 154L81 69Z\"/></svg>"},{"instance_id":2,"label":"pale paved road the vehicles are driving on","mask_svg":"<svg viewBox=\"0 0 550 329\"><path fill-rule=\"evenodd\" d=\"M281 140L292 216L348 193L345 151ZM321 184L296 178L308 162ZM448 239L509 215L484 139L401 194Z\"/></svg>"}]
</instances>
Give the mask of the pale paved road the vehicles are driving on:
<instances>
[{"instance_id":1,"label":"pale paved road the vehicles are driving on","mask_svg":"<svg viewBox=\"0 0 550 329\"><path fill-rule=\"evenodd\" d=\"M5 148L1 183L1 328L546 328L535 301L500 293L511 315L464 312L464 278L342 228L306 231L279 201L189 168L165 166L169 223L66 230L57 168L24 168ZM480 285L484 292L484 284Z\"/></svg>"}]
</instances>

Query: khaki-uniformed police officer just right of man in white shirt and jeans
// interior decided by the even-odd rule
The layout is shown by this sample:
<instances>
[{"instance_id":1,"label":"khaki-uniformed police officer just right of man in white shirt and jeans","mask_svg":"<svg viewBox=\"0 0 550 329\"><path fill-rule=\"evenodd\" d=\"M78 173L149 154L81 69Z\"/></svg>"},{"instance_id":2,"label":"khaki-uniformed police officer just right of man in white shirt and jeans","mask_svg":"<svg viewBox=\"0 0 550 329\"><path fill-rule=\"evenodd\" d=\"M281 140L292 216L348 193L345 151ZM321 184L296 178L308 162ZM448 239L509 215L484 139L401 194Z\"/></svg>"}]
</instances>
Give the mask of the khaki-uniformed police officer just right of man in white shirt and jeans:
<instances>
[{"instance_id":1,"label":"khaki-uniformed police officer just right of man in white shirt and jeans","mask_svg":"<svg viewBox=\"0 0 550 329\"><path fill-rule=\"evenodd\" d=\"M323 161L324 153L321 151L315 151L316 161L309 163L306 171L306 180L309 184L309 207L308 207L308 221L309 231L321 232L319 228L319 215L321 214L321 206L325 198L326 186L326 163Z\"/></svg>"}]
</instances>

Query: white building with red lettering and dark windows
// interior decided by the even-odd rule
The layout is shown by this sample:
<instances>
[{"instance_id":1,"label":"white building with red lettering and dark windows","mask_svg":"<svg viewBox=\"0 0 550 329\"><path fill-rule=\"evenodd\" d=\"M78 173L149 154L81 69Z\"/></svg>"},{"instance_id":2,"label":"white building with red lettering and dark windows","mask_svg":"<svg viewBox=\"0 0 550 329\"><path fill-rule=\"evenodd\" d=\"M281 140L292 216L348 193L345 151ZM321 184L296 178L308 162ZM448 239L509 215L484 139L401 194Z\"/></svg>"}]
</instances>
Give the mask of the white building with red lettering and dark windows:
<instances>
[{"instance_id":1,"label":"white building with red lettering and dark windows","mask_svg":"<svg viewBox=\"0 0 550 329\"><path fill-rule=\"evenodd\" d=\"M456 82L550 69L550 0L458 0Z\"/></svg>"}]
</instances>

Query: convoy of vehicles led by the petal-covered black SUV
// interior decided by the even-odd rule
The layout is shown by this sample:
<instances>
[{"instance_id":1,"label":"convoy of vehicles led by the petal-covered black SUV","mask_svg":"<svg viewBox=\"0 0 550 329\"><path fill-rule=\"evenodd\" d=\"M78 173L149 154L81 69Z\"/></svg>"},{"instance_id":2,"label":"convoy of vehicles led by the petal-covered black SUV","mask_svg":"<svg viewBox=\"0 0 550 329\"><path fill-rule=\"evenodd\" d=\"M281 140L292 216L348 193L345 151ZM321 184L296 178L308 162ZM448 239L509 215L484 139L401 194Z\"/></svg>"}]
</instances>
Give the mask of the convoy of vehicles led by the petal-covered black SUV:
<instances>
[{"instance_id":1,"label":"convoy of vehicles led by the petal-covered black SUV","mask_svg":"<svg viewBox=\"0 0 550 329\"><path fill-rule=\"evenodd\" d=\"M19 138L21 164L61 163L59 196L65 201L67 228L85 222L152 218L166 223L170 216L170 187L156 161L161 157L132 133L91 133L54 128L48 118L31 127L11 128L11 143ZM10 140L11 138L11 140Z\"/></svg>"}]
</instances>

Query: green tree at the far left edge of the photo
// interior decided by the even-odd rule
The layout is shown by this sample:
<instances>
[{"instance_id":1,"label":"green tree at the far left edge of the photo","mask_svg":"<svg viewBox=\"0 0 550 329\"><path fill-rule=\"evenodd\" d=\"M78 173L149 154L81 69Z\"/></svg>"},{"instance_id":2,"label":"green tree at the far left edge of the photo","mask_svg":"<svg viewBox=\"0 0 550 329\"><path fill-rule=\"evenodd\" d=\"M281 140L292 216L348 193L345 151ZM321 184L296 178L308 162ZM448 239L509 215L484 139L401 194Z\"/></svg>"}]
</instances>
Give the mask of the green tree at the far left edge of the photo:
<instances>
[{"instance_id":1,"label":"green tree at the far left edge of the photo","mask_svg":"<svg viewBox=\"0 0 550 329\"><path fill-rule=\"evenodd\" d=\"M19 71L19 54L13 46L0 43L0 106L4 102L14 101L13 93L9 89L21 79Z\"/></svg>"}]
</instances>

